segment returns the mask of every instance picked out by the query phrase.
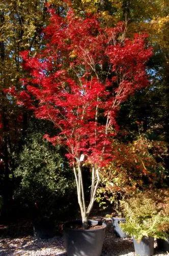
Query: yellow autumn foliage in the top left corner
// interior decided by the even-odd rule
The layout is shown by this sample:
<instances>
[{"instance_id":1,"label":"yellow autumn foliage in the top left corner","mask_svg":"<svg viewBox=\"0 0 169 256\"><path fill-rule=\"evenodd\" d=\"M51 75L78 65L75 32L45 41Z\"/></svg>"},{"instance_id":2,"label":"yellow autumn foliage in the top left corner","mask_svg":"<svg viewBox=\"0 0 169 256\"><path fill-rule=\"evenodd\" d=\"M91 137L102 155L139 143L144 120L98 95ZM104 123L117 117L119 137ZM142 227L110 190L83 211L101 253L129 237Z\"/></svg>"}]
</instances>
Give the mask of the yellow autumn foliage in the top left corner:
<instances>
[{"instance_id":1,"label":"yellow autumn foliage in the top left corner","mask_svg":"<svg viewBox=\"0 0 169 256\"><path fill-rule=\"evenodd\" d=\"M46 22L44 2L44 0L0 2L0 41L1 48L5 51L0 59L3 88L17 85L22 76L19 52L31 48L36 50L39 47L39 33Z\"/></svg>"}]
</instances>

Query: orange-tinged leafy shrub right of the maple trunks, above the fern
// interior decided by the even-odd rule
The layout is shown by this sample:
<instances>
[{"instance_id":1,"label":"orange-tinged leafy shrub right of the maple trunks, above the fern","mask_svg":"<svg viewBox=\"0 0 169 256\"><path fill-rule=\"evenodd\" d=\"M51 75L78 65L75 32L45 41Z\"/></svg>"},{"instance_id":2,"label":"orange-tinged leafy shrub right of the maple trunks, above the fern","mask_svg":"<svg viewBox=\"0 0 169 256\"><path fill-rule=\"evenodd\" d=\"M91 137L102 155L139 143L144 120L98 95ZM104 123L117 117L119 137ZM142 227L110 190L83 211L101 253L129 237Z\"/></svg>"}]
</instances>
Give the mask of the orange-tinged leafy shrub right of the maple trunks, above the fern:
<instances>
[{"instance_id":1,"label":"orange-tinged leafy shrub right of the maple trunks, above the fern","mask_svg":"<svg viewBox=\"0 0 169 256\"><path fill-rule=\"evenodd\" d=\"M151 141L138 136L130 143L114 141L115 159L102 170L97 202L106 208L110 203L121 214L119 200L124 200L147 187L163 186L165 167L163 156L167 151L163 141Z\"/></svg>"}]
</instances>

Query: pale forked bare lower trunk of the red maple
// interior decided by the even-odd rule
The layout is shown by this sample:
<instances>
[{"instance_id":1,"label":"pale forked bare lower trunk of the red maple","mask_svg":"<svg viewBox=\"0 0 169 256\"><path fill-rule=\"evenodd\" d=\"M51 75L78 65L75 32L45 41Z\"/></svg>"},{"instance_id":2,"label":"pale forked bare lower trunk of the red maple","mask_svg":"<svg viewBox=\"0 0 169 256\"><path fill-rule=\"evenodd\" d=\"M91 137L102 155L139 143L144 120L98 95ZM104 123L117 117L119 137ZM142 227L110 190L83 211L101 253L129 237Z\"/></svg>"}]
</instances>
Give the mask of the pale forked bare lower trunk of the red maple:
<instances>
[{"instance_id":1,"label":"pale forked bare lower trunk of the red maple","mask_svg":"<svg viewBox=\"0 0 169 256\"><path fill-rule=\"evenodd\" d=\"M92 184L91 184L91 193L90 193L90 202L88 206L85 202L85 193L83 188L83 179L82 179L82 167L81 162L77 159L76 163L73 163L73 170L76 180L76 186L77 186L77 198L78 198L78 204L80 207L81 212L81 218L82 218L82 226L85 229L89 228L88 220L89 220L89 214L93 208L93 204L95 201L95 195L96 190L99 185L99 168L93 166L91 170L92 174Z\"/></svg>"}]
</instances>

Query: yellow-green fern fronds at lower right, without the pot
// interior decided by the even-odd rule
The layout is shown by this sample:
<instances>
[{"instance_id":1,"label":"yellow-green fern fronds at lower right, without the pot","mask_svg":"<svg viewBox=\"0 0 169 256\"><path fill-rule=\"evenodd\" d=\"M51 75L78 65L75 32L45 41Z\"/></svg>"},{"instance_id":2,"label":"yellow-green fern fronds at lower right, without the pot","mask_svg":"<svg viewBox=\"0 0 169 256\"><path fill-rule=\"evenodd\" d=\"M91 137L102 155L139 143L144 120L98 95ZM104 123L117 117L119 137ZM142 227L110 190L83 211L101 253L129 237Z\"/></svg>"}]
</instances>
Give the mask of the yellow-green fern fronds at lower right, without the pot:
<instances>
[{"instance_id":1,"label":"yellow-green fern fronds at lower right, without the pot","mask_svg":"<svg viewBox=\"0 0 169 256\"><path fill-rule=\"evenodd\" d=\"M121 201L126 218L126 222L121 223L123 231L138 241L143 237L168 238L169 215L162 214L159 206L153 191L139 193L128 201Z\"/></svg>"}]
</instances>

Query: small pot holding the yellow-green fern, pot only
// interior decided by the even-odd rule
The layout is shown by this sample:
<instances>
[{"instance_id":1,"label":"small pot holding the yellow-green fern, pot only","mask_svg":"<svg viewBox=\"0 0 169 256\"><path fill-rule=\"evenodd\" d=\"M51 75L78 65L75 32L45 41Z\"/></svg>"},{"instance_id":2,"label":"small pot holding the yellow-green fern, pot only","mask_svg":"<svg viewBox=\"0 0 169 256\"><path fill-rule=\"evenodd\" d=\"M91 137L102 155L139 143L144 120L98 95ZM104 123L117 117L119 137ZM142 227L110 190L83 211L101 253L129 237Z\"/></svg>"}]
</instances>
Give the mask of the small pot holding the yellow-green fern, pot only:
<instances>
[{"instance_id":1,"label":"small pot holding the yellow-green fern, pot only","mask_svg":"<svg viewBox=\"0 0 169 256\"><path fill-rule=\"evenodd\" d=\"M133 238L135 253L144 256L151 256L154 253L154 238L144 237L140 242Z\"/></svg>"}]
</instances>

